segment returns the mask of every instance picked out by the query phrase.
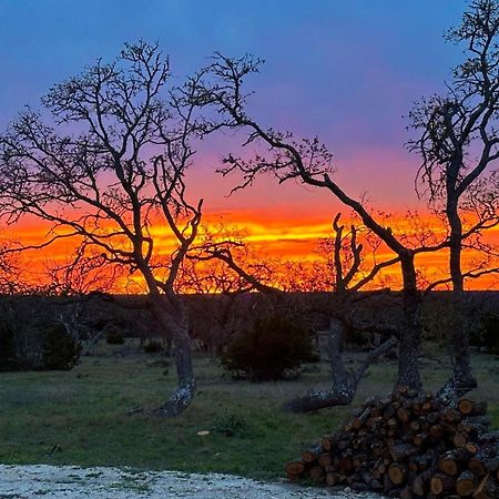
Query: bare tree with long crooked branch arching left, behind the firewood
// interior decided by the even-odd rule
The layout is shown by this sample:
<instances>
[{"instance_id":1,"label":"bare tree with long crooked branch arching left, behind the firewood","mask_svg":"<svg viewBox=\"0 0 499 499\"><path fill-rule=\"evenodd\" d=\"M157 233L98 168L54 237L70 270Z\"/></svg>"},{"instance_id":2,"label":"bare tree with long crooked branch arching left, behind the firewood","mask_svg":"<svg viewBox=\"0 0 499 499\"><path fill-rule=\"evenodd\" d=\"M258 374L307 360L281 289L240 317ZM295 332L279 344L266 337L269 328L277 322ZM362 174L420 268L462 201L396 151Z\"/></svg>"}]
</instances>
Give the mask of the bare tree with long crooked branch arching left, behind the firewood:
<instances>
[{"instance_id":1,"label":"bare tree with long crooked branch arching left, behind the firewood","mask_svg":"<svg viewBox=\"0 0 499 499\"><path fill-rule=\"evenodd\" d=\"M327 190L343 204L352 208L361 223L379 237L398 258L403 275L405 327L400 338L398 384L419 389L421 386L418 358L421 343L421 293L418 289L418 274L415 256L434 252L447 245L446 241L429 246L414 246L397 237L389 226L379 222L361 201L349 196L334 180L332 154L318 139L296 141L292 133L262 128L246 112L246 95L243 82L247 75L258 71L261 61L246 55L231 59L216 54L207 71L211 80L200 82L196 102L216 109L213 126L243 130L247 135L243 146L259 147L253 159L230 154L225 160L223 174L240 172L243 180L234 190L249 186L259 174L271 173L279 182L289 180Z\"/></svg>"}]
</instances>

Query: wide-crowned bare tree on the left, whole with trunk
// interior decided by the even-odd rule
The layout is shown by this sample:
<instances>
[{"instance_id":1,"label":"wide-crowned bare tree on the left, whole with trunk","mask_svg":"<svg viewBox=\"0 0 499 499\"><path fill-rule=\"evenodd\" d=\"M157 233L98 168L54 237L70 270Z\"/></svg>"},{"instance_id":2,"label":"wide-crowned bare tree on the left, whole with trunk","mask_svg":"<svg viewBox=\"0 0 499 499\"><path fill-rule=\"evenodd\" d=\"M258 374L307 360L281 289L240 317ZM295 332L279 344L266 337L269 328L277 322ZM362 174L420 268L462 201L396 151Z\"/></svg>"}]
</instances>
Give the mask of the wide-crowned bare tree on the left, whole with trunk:
<instances>
[{"instance_id":1,"label":"wide-crowned bare tree on the left, whole with trunk","mask_svg":"<svg viewBox=\"0 0 499 499\"><path fill-rule=\"evenodd\" d=\"M54 124L30 109L1 136L3 200L10 221L31 214L53 224L51 240L80 241L82 255L139 274L149 306L174 344L177 388L157 410L176 416L191 403L195 379L189 314L175 289L196 238L202 200L191 203L185 172L191 142L208 132L196 114L196 74L170 86L170 64L156 44L125 44L115 62L98 61L54 85L42 103ZM159 252L151 226L174 243Z\"/></svg>"}]
</instances>

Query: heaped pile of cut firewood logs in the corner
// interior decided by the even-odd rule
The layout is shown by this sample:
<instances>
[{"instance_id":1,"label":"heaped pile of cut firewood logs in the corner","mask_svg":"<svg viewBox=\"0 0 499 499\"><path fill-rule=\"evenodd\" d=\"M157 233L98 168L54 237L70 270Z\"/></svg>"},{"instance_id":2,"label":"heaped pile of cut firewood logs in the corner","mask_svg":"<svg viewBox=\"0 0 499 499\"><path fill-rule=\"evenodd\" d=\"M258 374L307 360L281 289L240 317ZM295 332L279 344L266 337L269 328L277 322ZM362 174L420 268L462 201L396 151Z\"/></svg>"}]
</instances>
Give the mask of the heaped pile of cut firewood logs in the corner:
<instances>
[{"instance_id":1,"label":"heaped pile of cut firewood logs in the corner","mask_svg":"<svg viewBox=\"0 0 499 499\"><path fill-rule=\"evenodd\" d=\"M464 398L449 407L401 387L367 400L286 472L401 499L499 498L499 435L489 424L485 401Z\"/></svg>"}]
</instances>

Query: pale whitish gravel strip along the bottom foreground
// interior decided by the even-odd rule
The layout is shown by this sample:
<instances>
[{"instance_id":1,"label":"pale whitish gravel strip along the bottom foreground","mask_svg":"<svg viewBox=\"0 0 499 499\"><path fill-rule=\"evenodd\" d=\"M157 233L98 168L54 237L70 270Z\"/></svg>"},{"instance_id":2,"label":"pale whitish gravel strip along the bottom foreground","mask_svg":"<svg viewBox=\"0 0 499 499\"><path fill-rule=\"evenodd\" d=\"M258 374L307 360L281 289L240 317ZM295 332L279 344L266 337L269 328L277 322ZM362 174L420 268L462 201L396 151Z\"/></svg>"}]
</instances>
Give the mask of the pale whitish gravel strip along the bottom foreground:
<instances>
[{"instance_id":1,"label":"pale whitish gravel strip along the bottom foreground","mask_svg":"<svg viewBox=\"0 0 499 499\"><path fill-rule=\"evenodd\" d=\"M0 499L379 499L368 493L332 493L289 483L265 483L228 475L134 471L119 468L0 465Z\"/></svg>"}]
</instances>

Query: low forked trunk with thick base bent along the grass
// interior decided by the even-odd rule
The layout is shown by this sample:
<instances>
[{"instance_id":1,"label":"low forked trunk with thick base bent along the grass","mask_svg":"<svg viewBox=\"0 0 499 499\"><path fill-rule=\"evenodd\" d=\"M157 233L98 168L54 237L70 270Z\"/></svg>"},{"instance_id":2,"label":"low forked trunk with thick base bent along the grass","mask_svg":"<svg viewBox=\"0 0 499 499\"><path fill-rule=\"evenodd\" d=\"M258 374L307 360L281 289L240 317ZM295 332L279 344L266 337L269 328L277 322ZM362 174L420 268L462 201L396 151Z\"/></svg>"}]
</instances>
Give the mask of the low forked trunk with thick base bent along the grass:
<instances>
[{"instance_id":1,"label":"low forked trunk with thick base bent along the grass","mask_svg":"<svg viewBox=\"0 0 499 499\"><path fill-rule=\"evenodd\" d=\"M345 368L342 356L342 343L345 337L345 325L337 318L329 320L328 355L332 374L332 388L327 390L313 390L304 397L295 398L284 405L293 413L308 413L326 407L348 406L357 391L358 384L373 361L387 353L397 344L395 338L379 345L366 357L364 363L354 371Z\"/></svg>"}]
</instances>

